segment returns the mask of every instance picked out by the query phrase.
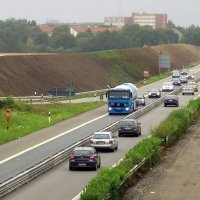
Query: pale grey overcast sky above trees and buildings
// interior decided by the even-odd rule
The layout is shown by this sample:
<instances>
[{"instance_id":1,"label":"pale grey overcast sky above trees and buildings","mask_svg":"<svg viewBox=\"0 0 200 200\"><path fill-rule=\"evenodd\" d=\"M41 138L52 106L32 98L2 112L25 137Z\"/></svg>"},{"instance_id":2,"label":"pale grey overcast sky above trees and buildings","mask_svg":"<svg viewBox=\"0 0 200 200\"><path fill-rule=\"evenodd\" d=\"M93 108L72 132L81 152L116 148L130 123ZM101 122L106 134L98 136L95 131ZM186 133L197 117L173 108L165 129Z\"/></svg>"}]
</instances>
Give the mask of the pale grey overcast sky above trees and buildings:
<instances>
[{"instance_id":1,"label":"pale grey overcast sky above trees and buildings","mask_svg":"<svg viewBox=\"0 0 200 200\"><path fill-rule=\"evenodd\" d=\"M103 22L133 12L164 13L176 26L200 26L200 0L0 0L0 20Z\"/></svg>"}]
</instances>

